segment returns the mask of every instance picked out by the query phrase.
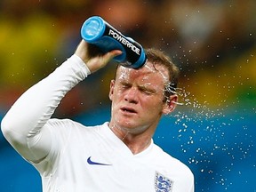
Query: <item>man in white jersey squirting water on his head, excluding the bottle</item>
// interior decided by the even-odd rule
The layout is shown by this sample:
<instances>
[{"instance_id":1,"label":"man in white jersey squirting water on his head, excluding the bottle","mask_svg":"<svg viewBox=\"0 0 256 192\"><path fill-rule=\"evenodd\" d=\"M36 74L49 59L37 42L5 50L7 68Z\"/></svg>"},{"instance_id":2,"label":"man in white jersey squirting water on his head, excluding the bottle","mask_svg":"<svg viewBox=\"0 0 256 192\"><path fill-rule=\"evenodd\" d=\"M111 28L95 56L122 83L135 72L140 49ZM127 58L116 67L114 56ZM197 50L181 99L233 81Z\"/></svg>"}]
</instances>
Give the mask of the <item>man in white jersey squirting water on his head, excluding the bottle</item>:
<instances>
[{"instance_id":1,"label":"man in white jersey squirting water on his head, excluding the bottle","mask_svg":"<svg viewBox=\"0 0 256 192\"><path fill-rule=\"evenodd\" d=\"M188 167L152 140L161 116L171 113L178 99L178 69L163 52L148 50L139 69L118 66L110 83L109 123L87 127L51 119L72 87L118 54L89 57L82 40L72 57L4 116L6 140L40 172L44 191L194 191Z\"/></svg>"}]
</instances>

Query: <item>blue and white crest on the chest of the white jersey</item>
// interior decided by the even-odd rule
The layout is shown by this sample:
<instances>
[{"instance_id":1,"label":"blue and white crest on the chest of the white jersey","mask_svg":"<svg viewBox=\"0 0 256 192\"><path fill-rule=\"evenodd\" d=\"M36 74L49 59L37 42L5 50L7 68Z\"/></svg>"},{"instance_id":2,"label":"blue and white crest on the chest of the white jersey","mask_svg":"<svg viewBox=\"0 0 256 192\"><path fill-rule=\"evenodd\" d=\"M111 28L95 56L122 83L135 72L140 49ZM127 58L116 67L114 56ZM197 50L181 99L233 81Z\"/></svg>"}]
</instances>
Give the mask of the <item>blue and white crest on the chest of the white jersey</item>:
<instances>
[{"instance_id":1,"label":"blue and white crest on the chest of the white jersey","mask_svg":"<svg viewBox=\"0 0 256 192\"><path fill-rule=\"evenodd\" d=\"M160 172L156 172L155 176L155 189L156 192L172 192L173 181L166 178Z\"/></svg>"}]
</instances>

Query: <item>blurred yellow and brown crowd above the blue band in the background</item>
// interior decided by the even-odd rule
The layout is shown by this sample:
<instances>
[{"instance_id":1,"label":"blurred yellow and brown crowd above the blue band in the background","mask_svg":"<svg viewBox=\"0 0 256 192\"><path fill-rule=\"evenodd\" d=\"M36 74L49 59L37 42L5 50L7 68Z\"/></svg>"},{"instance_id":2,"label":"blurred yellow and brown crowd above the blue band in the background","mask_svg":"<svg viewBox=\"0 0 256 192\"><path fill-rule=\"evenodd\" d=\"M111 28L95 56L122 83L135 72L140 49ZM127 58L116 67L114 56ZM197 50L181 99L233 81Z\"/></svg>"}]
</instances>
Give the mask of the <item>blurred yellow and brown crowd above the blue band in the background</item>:
<instances>
[{"instance_id":1,"label":"blurred yellow and brown crowd above the blue band in the background","mask_svg":"<svg viewBox=\"0 0 256 192\"><path fill-rule=\"evenodd\" d=\"M167 52L181 69L180 86L200 102L255 101L255 10L254 0L1 0L0 110L75 51L92 15ZM114 68L79 84L57 114L75 116L108 103Z\"/></svg>"}]
</instances>

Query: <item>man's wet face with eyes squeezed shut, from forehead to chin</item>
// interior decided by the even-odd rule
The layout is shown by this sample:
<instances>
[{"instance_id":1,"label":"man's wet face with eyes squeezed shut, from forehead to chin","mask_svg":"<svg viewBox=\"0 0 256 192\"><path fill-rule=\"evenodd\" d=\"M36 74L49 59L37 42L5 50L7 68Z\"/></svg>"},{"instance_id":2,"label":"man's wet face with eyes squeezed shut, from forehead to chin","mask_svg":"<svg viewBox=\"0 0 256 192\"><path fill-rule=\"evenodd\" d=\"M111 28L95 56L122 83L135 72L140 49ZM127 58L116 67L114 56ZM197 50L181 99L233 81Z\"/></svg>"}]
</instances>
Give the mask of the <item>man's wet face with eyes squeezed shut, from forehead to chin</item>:
<instances>
[{"instance_id":1,"label":"man's wet face with eyes squeezed shut, from forehead to chin","mask_svg":"<svg viewBox=\"0 0 256 192\"><path fill-rule=\"evenodd\" d=\"M109 92L112 100L111 127L133 133L144 132L148 128L155 132L162 114L170 112L170 105L163 101L168 72L163 66L155 67L148 62L137 70L117 69L116 80L112 80Z\"/></svg>"}]
</instances>

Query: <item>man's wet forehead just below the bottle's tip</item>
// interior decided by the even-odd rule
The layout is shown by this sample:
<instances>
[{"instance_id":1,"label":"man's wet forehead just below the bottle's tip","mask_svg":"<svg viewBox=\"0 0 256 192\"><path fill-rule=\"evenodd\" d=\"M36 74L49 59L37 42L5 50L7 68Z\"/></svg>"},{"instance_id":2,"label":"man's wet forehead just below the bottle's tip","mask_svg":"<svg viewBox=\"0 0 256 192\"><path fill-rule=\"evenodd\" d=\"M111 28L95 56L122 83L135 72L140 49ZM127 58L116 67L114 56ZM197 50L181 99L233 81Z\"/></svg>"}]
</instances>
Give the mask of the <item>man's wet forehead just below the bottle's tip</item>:
<instances>
[{"instance_id":1,"label":"man's wet forehead just below the bottle's tip","mask_svg":"<svg viewBox=\"0 0 256 192\"><path fill-rule=\"evenodd\" d=\"M116 80L141 80L141 81L155 81L157 83L168 83L169 75L167 68L162 65L155 64L153 65L151 62L147 62L142 68L133 69L133 68L124 68L120 66L116 71Z\"/></svg>"}]
</instances>

